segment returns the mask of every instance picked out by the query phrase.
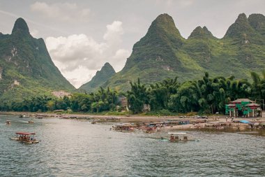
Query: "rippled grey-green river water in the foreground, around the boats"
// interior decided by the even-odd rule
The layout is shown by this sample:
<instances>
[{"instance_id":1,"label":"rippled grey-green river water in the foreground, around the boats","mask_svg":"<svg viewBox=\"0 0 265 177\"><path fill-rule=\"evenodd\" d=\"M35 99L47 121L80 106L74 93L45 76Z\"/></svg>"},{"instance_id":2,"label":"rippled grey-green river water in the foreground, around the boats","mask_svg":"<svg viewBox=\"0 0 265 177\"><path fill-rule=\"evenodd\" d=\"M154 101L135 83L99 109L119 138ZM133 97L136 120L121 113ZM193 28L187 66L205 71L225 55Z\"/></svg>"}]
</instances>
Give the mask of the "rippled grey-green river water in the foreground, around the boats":
<instances>
[{"instance_id":1,"label":"rippled grey-green river water in the foreground, around the boats","mask_svg":"<svg viewBox=\"0 0 265 177\"><path fill-rule=\"evenodd\" d=\"M167 132L28 120L0 116L0 176L265 176L265 136L192 131L188 134L199 141L170 143L159 139ZM40 143L12 141L15 132L36 132Z\"/></svg>"}]
</instances>

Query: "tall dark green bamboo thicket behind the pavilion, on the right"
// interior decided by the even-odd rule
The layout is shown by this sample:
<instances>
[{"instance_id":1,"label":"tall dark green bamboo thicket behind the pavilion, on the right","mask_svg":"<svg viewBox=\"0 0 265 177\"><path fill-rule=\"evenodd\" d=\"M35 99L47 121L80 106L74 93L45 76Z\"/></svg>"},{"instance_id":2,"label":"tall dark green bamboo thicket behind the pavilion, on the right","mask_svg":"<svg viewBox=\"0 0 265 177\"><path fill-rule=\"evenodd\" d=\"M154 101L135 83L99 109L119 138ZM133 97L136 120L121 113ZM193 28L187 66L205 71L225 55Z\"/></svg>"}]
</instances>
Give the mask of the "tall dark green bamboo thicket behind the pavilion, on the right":
<instances>
[{"instance_id":1,"label":"tall dark green bamboo thicket behind the pavilion, on the right","mask_svg":"<svg viewBox=\"0 0 265 177\"><path fill-rule=\"evenodd\" d=\"M144 104L150 104L151 111L225 113L225 104L234 99L265 99L265 71L263 78L255 72L251 76L252 84L234 76L209 78L209 73L200 80L178 83L177 78L166 79L150 87L138 80L130 83L128 101L134 113L141 112Z\"/></svg>"}]
</instances>

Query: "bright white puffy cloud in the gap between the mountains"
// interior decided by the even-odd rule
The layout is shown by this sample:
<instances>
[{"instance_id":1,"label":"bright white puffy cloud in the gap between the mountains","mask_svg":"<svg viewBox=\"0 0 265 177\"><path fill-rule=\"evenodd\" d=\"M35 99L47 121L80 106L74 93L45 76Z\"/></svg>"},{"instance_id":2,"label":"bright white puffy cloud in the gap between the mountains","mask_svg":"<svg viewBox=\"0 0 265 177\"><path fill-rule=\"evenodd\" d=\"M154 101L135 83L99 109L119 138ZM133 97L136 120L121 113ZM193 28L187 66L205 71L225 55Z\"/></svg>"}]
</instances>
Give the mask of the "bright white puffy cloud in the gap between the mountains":
<instances>
[{"instance_id":1,"label":"bright white puffy cloud in the gap between the mountains","mask_svg":"<svg viewBox=\"0 0 265 177\"><path fill-rule=\"evenodd\" d=\"M130 51L121 48L124 31L122 22L107 25L103 35L105 41L99 43L85 34L73 34L58 38L46 38L47 49L70 83L79 87L91 80L105 62L112 64L116 71L123 68Z\"/></svg>"}]
</instances>

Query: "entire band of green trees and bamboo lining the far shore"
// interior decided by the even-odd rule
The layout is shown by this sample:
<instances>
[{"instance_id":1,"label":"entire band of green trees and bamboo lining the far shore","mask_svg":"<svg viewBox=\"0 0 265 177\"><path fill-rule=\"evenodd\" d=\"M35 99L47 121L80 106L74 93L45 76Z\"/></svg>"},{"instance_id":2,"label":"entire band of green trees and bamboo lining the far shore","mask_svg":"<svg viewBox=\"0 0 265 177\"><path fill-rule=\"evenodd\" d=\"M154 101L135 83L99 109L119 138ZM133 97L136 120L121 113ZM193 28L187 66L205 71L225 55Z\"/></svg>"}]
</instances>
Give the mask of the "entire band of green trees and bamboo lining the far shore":
<instances>
[{"instance_id":1,"label":"entire band of green trees and bamboo lining the far shore","mask_svg":"<svg viewBox=\"0 0 265 177\"><path fill-rule=\"evenodd\" d=\"M13 102L1 106L1 111L54 111L57 109L73 112L100 113L117 111L121 103L119 97L126 96L130 111L141 113L144 104L151 111L161 113L225 113L225 104L239 98L265 99L265 71L262 77L252 72L252 83L248 80L236 80L234 76L210 78L209 73L199 80L179 83L178 78L165 79L162 82L145 85L130 82L131 89L126 93L104 90L91 94L73 94L60 99L51 97L33 97L22 102ZM120 111L120 110L119 110Z\"/></svg>"}]
</instances>

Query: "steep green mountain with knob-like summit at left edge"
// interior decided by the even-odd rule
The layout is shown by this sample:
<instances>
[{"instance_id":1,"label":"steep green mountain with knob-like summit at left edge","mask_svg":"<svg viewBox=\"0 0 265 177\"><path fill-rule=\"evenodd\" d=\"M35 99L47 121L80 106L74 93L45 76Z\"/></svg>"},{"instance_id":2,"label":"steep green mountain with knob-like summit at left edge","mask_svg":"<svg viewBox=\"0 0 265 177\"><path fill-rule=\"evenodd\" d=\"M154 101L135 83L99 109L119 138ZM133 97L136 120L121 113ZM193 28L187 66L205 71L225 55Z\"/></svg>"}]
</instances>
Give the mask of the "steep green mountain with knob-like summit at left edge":
<instances>
[{"instance_id":1,"label":"steep green mountain with knob-like summit at left edge","mask_svg":"<svg viewBox=\"0 0 265 177\"><path fill-rule=\"evenodd\" d=\"M22 18L12 34L0 34L0 76L2 101L75 90L52 62L43 38L33 38Z\"/></svg>"}]
</instances>

